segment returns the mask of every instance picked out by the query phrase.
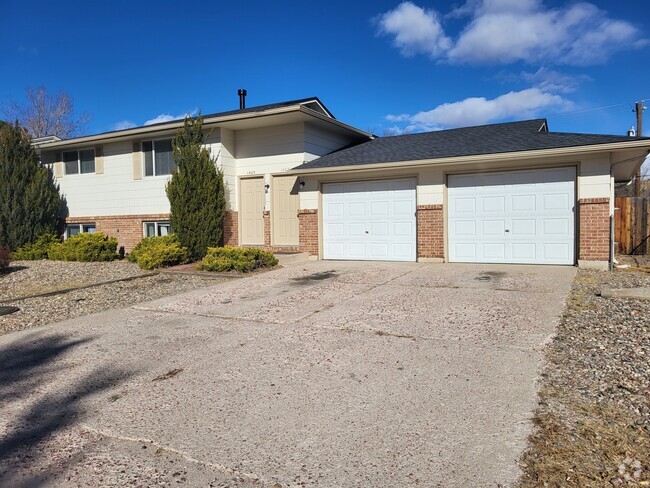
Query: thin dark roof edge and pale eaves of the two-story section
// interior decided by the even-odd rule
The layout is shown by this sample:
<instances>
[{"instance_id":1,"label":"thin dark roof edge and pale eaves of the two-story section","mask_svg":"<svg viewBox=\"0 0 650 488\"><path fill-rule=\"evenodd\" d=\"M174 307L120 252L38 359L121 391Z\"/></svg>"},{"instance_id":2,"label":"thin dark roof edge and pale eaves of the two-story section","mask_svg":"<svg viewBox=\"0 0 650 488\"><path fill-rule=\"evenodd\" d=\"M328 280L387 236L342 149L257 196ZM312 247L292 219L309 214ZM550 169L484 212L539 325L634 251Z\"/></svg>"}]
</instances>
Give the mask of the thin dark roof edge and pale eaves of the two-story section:
<instances>
[{"instance_id":1,"label":"thin dark roof edge and pale eaves of the two-story section","mask_svg":"<svg viewBox=\"0 0 650 488\"><path fill-rule=\"evenodd\" d=\"M368 134L360 129L349 126L342 122L336 120L332 113L325 107L325 105L319 100L318 97L309 97L309 98L300 98L297 100L288 100L285 102L279 103L269 103L266 105L258 105L255 107L249 107L241 110L229 110L226 112L216 112L212 114L202 114L204 124L214 124L223 122L223 119L242 119L242 118L253 118L257 116L263 116L267 114L275 114L279 112L287 112L293 110L300 110L305 113L310 113L316 117L320 117L323 120L332 122L334 125L338 125L342 128L352 130L354 132L363 135L368 138L371 134ZM157 132L163 130L173 130L178 127L182 127L183 120L175 119L167 122L159 122L157 124L143 125L138 127L131 127L128 129L121 129L116 131L101 132L98 134L92 134L88 136L76 137L73 139L63 139L63 140L34 140L32 143L44 149L51 147L62 147L71 144L81 144L88 143L96 140L107 140L107 139L116 139L116 138L126 138L136 135L141 135L143 133ZM47 139L47 138L42 138Z\"/></svg>"}]
</instances>

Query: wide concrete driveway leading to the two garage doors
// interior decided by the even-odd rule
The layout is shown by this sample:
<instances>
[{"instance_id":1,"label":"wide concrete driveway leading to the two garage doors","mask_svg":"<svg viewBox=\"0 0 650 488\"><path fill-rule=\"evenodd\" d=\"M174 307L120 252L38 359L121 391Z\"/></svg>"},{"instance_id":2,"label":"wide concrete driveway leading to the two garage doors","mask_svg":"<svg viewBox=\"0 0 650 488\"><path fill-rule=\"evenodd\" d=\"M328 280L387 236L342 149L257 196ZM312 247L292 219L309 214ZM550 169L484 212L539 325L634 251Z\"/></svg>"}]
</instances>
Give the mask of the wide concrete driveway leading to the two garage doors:
<instances>
[{"instance_id":1,"label":"wide concrete driveway leading to the two garage doors","mask_svg":"<svg viewBox=\"0 0 650 488\"><path fill-rule=\"evenodd\" d=\"M310 262L0 337L0 485L510 485L574 274Z\"/></svg>"}]
</instances>

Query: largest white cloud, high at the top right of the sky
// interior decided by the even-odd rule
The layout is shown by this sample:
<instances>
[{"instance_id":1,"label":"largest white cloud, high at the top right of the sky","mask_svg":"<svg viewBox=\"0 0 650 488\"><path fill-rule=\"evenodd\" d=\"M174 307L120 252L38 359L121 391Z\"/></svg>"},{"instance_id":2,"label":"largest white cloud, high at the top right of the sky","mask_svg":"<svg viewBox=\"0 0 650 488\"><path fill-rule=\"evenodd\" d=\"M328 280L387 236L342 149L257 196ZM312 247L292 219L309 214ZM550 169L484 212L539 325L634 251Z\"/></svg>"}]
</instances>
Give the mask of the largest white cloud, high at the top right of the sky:
<instances>
[{"instance_id":1,"label":"largest white cloud, high at the top right of the sky","mask_svg":"<svg viewBox=\"0 0 650 488\"><path fill-rule=\"evenodd\" d=\"M455 40L436 12L411 2L381 15L379 33L394 36L404 55L470 64L592 65L648 44L634 25L587 2L548 8L541 0L468 0L447 17L469 18Z\"/></svg>"}]
</instances>

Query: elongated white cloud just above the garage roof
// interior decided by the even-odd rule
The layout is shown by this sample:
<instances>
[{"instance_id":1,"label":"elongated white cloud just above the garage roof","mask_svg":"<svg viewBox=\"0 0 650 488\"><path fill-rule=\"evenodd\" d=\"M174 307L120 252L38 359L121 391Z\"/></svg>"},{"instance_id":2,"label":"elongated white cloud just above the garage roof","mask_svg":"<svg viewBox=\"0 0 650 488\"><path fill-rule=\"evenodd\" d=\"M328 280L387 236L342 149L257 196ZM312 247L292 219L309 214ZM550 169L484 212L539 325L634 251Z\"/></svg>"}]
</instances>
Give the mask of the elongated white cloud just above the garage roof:
<instances>
[{"instance_id":1,"label":"elongated white cloud just above the garage roof","mask_svg":"<svg viewBox=\"0 0 650 488\"><path fill-rule=\"evenodd\" d=\"M411 132L482 125L504 119L536 117L543 109L568 110L572 107L573 104L560 95L540 88L528 88L491 100L470 97L458 102L443 103L432 110L408 116L409 124L402 130ZM391 120L389 117L391 116L386 118Z\"/></svg>"}]
</instances>

